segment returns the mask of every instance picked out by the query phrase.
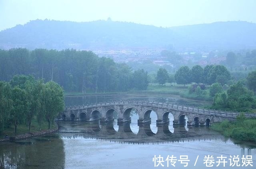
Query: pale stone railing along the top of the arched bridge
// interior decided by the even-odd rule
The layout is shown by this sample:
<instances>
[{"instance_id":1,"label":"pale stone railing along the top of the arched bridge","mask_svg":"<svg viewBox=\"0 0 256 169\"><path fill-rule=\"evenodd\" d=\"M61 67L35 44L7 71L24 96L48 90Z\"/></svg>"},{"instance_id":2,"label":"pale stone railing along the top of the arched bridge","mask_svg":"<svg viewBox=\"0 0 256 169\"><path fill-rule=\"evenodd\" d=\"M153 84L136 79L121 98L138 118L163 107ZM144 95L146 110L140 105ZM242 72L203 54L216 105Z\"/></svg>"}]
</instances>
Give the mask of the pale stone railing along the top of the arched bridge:
<instances>
[{"instance_id":1,"label":"pale stone railing along the top of the arched bridge","mask_svg":"<svg viewBox=\"0 0 256 169\"><path fill-rule=\"evenodd\" d=\"M87 104L82 106L73 106L73 107L66 107L65 110L79 110L82 108L93 108L98 106L114 106L114 105L139 105L139 106L153 106L158 108L169 108L172 110L181 110L184 112L191 112L197 114L204 114L209 116L222 116L222 117L230 117L235 118L236 116L240 115L240 112L230 112L225 110L213 110L213 109L204 109L204 108L197 108L194 106L185 106L180 104L173 104L168 102L155 102L155 101L145 101L145 100L119 100L119 101L108 101L108 102L100 102L100 103L93 103ZM64 111L65 111L64 110ZM256 114L252 113L244 113L247 118L256 118Z\"/></svg>"}]
</instances>

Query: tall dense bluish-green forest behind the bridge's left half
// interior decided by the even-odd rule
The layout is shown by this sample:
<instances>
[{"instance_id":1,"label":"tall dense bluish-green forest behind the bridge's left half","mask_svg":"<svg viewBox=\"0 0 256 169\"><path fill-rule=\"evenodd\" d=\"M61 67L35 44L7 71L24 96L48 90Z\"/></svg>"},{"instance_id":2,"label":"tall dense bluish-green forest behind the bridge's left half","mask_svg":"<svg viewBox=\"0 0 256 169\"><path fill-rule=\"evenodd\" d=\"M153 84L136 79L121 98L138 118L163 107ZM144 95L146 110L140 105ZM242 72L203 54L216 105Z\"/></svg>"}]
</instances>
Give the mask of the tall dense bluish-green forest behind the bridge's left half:
<instances>
[{"instance_id":1,"label":"tall dense bluish-green forest behind the bridge's left half","mask_svg":"<svg viewBox=\"0 0 256 169\"><path fill-rule=\"evenodd\" d=\"M54 81L63 86L65 92L142 90L148 86L146 71L132 71L110 58L74 49L0 50L0 81L9 81L14 75Z\"/></svg>"}]
</instances>

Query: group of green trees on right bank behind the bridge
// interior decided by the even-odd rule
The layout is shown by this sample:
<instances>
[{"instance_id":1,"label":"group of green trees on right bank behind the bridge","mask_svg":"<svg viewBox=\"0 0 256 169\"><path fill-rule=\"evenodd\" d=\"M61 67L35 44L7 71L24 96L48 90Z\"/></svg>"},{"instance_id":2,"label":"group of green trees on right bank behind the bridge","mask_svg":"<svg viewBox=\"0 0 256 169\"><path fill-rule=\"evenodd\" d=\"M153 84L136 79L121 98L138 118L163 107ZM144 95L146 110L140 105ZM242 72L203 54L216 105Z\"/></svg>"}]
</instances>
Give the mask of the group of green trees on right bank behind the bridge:
<instances>
[{"instance_id":1,"label":"group of green trees on right bank behind the bridge","mask_svg":"<svg viewBox=\"0 0 256 169\"><path fill-rule=\"evenodd\" d=\"M256 71L248 73L245 79L238 80L224 91L222 86L230 79L231 75L223 65L207 65L204 68L196 65L192 69L183 66L175 75L168 75L166 69L160 68L156 76L156 81L160 85L174 81L182 85L196 83L188 87L188 93L194 93L202 98L209 95L213 100L211 108L214 109L250 111L256 108ZM199 83L204 85L198 85ZM211 85L208 91L205 85Z\"/></svg>"}]
</instances>

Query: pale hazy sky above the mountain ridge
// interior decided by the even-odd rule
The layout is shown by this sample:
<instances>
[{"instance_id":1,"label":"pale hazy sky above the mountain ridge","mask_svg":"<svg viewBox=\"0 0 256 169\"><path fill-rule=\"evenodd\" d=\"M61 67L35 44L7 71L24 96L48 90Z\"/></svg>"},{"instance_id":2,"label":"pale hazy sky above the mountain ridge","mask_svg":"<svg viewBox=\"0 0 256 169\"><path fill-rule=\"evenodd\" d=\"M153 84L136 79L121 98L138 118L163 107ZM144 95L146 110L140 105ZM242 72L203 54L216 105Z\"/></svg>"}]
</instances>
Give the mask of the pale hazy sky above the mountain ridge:
<instances>
[{"instance_id":1,"label":"pale hazy sky above the mountain ridge","mask_svg":"<svg viewBox=\"0 0 256 169\"><path fill-rule=\"evenodd\" d=\"M256 23L256 0L0 0L0 30L36 19L86 22L108 17L162 27Z\"/></svg>"}]
</instances>

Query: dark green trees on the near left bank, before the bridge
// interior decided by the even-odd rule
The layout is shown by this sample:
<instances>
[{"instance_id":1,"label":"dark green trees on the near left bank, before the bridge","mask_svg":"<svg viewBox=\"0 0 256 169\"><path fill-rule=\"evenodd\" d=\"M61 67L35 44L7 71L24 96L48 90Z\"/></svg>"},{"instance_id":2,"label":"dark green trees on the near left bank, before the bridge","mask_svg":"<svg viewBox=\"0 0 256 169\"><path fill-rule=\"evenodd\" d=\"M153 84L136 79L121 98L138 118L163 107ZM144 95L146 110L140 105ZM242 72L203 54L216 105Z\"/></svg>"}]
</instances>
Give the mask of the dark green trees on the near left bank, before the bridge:
<instances>
[{"instance_id":1,"label":"dark green trees on the near left bank, before the bridge","mask_svg":"<svg viewBox=\"0 0 256 169\"><path fill-rule=\"evenodd\" d=\"M5 128L20 124L30 126L37 120L39 129L43 121L53 123L64 109L63 89L57 83L35 80L32 76L16 75L10 82L0 81L0 133Z\"/></svg>"}]
</instances>

